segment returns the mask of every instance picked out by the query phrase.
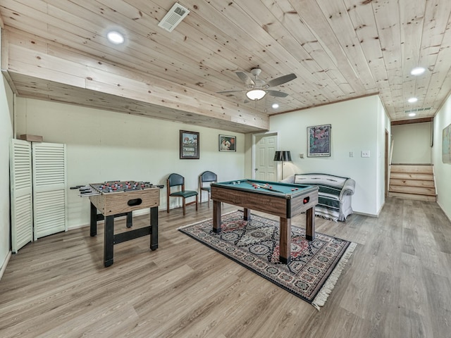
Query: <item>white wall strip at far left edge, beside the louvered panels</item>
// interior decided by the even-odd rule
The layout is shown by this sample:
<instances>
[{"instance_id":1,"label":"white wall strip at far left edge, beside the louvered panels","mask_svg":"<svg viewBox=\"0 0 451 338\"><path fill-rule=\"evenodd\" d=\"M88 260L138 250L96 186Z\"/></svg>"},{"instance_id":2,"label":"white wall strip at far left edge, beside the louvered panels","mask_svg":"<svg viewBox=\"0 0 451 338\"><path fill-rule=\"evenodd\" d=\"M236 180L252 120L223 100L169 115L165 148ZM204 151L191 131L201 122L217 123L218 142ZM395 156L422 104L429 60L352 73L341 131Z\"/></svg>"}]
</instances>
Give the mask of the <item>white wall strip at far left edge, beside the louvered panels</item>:
<instances>
[{"instance_id":1,"label":"white wall strip at far left edge, beside the louvered panels","mask_svg":"<svg viewBox=\"0 0 451 338\"><path fill-rule=\"evenodd\" d=\"M0 76L0 268L4 267L10 245L9 142L13 138L13 92ZM0 276L1 277L1 276Z\"/></svg>"}]
</instances>

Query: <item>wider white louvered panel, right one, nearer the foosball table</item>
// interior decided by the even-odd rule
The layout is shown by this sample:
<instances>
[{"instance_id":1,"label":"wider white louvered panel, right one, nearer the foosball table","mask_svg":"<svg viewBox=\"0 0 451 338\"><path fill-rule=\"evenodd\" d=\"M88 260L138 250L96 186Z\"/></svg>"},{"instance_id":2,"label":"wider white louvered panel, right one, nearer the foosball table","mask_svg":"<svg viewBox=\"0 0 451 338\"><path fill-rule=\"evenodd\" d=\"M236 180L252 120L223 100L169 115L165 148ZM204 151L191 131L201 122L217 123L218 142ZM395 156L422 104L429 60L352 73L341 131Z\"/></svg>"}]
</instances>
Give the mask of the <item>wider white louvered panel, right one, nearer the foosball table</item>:
<instances>
[{"instance_id":1,"label":"wider white louvered panel, right one, nearer the foosball table","mask_svg":"<svg viewBox=\"0 0 451 338\"><path fill-rule=\"evenodd\" d=\"M67 231L66 144L32 144L35 240Z\"/></svg>"}]
</instances>

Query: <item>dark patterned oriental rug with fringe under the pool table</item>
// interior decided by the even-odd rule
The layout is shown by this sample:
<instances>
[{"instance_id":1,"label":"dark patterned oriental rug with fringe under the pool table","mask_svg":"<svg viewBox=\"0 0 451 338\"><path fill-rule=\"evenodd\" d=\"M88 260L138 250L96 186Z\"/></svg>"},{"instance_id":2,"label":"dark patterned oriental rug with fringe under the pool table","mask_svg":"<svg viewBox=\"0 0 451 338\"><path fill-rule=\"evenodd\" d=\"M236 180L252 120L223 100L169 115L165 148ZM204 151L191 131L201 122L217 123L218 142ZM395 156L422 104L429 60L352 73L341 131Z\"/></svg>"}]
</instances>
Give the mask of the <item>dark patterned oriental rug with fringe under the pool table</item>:
<instances>
[{"instance_id":1,"label":"dark patterned oriental rug with fringe under the pool table","mask_svg":"<svg viewBox=\"0 0 451 338\"><path fill-rule=\"evenodd\" d=\"M286 265L279 262L279 222L242 216L242 211L222 215L220 234L212 231L211 219L179 230L317 309L323 306L357 244L319 232L309 242L304 229L292 226L291 263Z\"/></svg>"}]
</instances>

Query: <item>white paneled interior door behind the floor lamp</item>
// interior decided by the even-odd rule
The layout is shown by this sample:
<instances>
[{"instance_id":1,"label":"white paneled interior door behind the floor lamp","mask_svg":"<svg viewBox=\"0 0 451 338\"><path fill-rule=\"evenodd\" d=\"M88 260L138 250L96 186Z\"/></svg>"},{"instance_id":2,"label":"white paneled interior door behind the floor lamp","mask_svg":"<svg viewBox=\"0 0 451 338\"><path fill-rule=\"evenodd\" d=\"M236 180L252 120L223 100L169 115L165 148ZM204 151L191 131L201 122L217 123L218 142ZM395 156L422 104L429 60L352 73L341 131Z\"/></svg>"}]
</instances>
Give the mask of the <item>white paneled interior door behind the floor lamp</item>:
<instances>
[{"instance_id":1,"label":"white paneled interior door behind the floor lamp","mask_svg":"<svg viewBox=\"0 0 451 338\"><path fill-rule=\"evenodd\" d=\"M277 167L273 161L277 149L277 134L255 137L254 178L262 181L277 181Z\"/></svg>"}]
</instances>

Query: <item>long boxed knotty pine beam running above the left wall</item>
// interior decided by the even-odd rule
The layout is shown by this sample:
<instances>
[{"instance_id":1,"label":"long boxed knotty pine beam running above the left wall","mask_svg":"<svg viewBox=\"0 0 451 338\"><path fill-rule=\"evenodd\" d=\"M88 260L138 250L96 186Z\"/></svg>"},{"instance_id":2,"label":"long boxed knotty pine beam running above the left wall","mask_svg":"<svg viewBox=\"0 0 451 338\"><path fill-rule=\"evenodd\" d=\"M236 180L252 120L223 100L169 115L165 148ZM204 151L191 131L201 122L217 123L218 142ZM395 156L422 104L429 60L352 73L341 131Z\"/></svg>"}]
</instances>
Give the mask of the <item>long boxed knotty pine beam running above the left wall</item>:
<instances>
[{"instance_id":1,"label":"long boxed knotty pine beam running above the left wall","mask_svg":"<svg viewBox=\"0 0 451 338\"><path fill-rule=\"evenodd\" d=\"M232 104L181 84L100 61L87 54L80 53L77 61L73 61L73 55L67 58L61 55L63 46L59 46L60 54L55 56L49 53L51 42L32 35L25 36L28 39L26 43L23 39L16 39L14 34L6 39L8 48L4 48L4 51L8 55L4 58L8 60L8 64L3 65L4 71L11 77L21 75L23 78L33 77L35 82L66 86L61 88L60 93L50 92L48 98L51 100L86 106L87 102L73 92L74 89L87 89L91 104L94 105L93 101L97 100L101 103L100 107L104 106L106 110L121 107L117 111L165 120L168 120L168 111L171 111L171 120L184 123L192 121L193 124L200 124L204 120L208 122L206 126L221 126L226 130L240 132L264 131L269 128L268 115L253 111L250 106L247 108ZM74 51L68 51L68 54L73 53ZM16 90L16 94L20 96L20 89ZM128 104L121 104L121 99ZM150 111L127 111L126 107L132 101L142 107L147 106ZM180 118L177 118L178 114Z\"/></svg>"}]
</instances>

